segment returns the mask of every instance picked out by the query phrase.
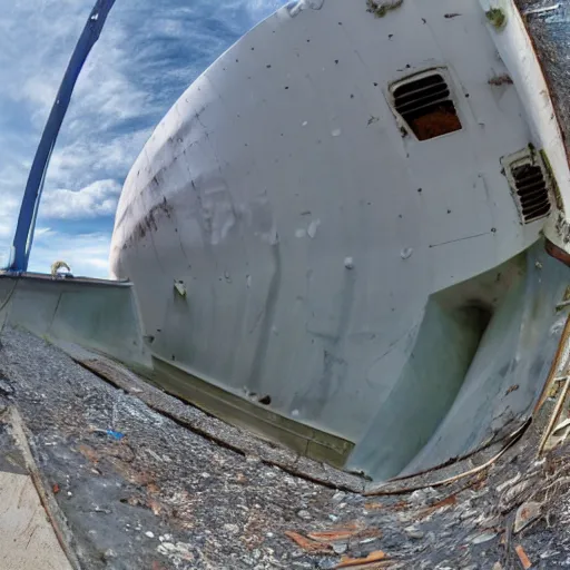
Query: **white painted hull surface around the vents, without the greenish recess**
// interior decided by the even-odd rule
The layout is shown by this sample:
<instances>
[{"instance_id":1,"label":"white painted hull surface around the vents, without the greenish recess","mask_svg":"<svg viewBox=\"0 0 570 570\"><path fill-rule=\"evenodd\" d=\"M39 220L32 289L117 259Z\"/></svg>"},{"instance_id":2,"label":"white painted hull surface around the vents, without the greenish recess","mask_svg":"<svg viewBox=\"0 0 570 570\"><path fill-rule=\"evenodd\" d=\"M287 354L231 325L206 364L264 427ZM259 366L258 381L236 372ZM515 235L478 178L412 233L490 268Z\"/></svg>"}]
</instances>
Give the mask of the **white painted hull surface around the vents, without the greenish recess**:
<instances>
[{"instance_id":1,"label":"white painted hull surface around the vents, without the greenish recess","mask_svg":"<svg viewBox=\"0 0 570 570\"><path fill-rule=\"evenodd\" d=\"M519 83L489 83L511 70L481 6L458 11L284 8L183 95L129 173L111 250L158 355L357 443L429 296L537 239L544 220L520 224L500 159L543 131ZM390 83L440 67L462 129L402 137Z\"/></svg>"}]
</instances>

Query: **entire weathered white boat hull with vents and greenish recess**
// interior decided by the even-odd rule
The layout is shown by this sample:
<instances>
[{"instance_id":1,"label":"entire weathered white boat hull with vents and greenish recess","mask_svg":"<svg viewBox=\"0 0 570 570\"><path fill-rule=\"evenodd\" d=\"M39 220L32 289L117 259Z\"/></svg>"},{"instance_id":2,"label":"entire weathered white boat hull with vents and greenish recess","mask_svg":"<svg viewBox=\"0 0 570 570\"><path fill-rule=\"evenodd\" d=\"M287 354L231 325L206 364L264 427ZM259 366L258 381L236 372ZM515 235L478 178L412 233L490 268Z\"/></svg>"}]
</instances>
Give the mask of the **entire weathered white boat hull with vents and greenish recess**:
<instances>
[{"instance_id":1,"label":"entire weathered white boat hull with vents and greenish recess","mask_svg":"<svg viewBox=\"0 0 570 570\"><path fill-rule=\"evenodd\" d=\"M111 267L174 391L383 479L532 407L567 275L525 252L570 176L514 6L288 6L206 70L129 173Z\"/></svg>"}]
</instances>

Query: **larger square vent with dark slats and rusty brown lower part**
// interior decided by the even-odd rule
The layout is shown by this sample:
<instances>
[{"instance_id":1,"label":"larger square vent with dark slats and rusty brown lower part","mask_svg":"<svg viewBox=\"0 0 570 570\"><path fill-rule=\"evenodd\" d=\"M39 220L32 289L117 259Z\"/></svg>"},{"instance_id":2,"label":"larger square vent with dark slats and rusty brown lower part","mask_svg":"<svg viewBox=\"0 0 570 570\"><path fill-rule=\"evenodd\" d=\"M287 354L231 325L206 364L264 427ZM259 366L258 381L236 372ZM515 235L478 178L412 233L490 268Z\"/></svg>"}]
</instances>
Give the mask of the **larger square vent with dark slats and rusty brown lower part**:
<instances>
[{"instance_id":1,"label":"larger square vent with dark slats and rusty brown lower part","mask_svg":"<svg viewBox=\"0 0 570 570\"><path fill-rule=\"evenodd\" d=\"M424 75L393 88L394 108L419 140L461 129L450 88L440 73Z\"/></svg>"}]
</instances>

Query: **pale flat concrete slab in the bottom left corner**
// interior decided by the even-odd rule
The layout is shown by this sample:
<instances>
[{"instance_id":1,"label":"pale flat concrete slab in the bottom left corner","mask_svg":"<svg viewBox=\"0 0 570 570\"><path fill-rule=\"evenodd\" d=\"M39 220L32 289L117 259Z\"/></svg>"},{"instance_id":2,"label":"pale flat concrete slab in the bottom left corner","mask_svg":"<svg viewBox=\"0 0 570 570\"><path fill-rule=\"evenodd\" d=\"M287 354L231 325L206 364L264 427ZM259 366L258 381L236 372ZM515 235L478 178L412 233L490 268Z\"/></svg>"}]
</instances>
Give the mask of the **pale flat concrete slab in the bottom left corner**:
<instances>
[{"instance_id":1,"label":"pale flat concrete slab in the bottom left corner","mask_svg":"<svg viewBox=\"0 0 570 570\"><path fill-rule=\"evenodd\" d=\"M0 568L71 570L29 475L0 471Z\"/></svg>"}]
</instances>

